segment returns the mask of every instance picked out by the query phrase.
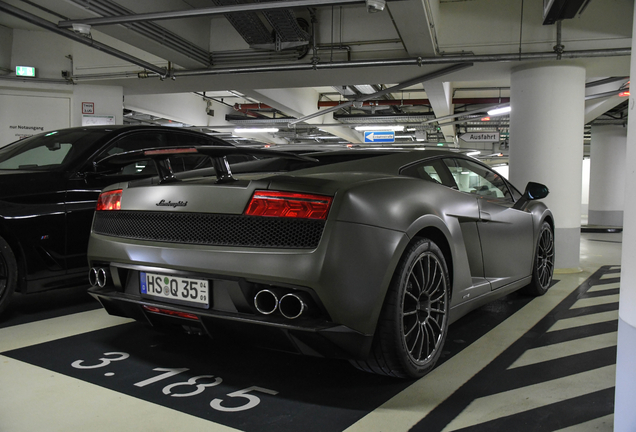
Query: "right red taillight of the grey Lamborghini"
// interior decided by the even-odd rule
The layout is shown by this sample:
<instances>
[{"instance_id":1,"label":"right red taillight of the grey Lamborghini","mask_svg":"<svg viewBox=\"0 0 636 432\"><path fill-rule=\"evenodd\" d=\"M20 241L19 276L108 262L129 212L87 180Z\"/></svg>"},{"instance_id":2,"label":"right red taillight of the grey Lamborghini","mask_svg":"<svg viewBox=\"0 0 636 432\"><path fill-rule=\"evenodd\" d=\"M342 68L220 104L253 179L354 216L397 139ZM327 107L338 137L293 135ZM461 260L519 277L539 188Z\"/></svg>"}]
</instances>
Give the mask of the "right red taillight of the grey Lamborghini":
<instances>
[{"instance_id":1,"label":"right red taillight of the grey Lamborghini","mask_svg":"<svg viewBox=\"0 0 636 432\"><path fill-rule=\"evenodd\" d=\"M245 214L248 216L327 219L332 197L295 192L256 191Z\"/></svg>"}]
</instances>

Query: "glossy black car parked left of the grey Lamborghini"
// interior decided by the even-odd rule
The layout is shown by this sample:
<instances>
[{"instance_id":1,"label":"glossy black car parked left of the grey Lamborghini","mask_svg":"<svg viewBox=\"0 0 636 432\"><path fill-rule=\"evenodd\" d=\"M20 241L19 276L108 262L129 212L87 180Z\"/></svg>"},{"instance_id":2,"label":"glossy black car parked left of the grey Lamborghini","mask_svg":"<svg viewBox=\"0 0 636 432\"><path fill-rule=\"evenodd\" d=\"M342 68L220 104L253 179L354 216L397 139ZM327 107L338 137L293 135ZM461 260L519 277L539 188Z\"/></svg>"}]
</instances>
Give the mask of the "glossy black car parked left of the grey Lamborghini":
<instances>
[{"instance_id":1,"label":"glossy black car parked left of the grey Lamborghini","mask_svg":"<svg viewBox=\"0 0 636 432\"><path fill-rule=\"evenodd\" d=\"M194 131L159 126L93 126L45 132L0 148L0 312L15 290L34 293L86 284L86 249L100 191L157 174L136 161L100 165L144 148L230 144ZM175 159L180 172L209 163Z\"/></svg>"}]
</instances>

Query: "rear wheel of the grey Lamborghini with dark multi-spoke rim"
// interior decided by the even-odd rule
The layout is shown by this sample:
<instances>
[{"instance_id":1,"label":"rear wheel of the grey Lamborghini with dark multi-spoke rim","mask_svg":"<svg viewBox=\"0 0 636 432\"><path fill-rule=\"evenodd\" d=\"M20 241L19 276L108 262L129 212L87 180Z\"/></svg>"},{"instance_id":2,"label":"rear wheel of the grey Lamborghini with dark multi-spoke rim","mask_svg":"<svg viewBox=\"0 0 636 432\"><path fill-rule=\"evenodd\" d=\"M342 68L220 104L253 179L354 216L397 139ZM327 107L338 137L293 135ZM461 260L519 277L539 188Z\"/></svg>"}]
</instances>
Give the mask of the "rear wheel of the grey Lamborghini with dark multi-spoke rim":
<instances>
[{"instance_id":1,"label":"rear wheel of the grey Lamborghini with dark multi-spoke rim","mask_svg":"<svg viewBox=\"0 0 636 432\"><path fill-rule=\"evenodd\" d=\"M395 272L382 310L373 352L358 368L402 378L427 374L448 331L450 279L444 255L428 239L413 243Z\"/></svg>"}]
</instances>

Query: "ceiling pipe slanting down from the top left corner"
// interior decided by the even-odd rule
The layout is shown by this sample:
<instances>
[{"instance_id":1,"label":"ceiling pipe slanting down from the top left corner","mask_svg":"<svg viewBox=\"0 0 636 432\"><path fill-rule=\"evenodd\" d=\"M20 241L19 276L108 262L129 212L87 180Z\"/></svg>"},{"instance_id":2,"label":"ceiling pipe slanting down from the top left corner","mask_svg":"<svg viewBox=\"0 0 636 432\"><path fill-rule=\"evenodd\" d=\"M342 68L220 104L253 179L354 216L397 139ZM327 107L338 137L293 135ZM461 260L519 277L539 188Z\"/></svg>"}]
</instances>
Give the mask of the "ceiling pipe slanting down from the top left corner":
<instances>
[{"instance_id":1,"label":"ceiling pipe slanting down from the top left corner","mask_svg":"<svg viewBox=\"0 0 636 432\"><path fill-rule=\"evenodd\" d=\"M159 68L155 65L153 65L152 63L148 63L144 60L141 60L137 57L133 57L129 54L126 54L123 51L119 51L118 49L115 49L113 47L110 47L108 45L104 45L101 42L97 42L96 40L93 40L92 38L86 37L86 36L80 36L77 33L74 33L70 30L66 30L66 29L61 29L58 28L55 24L40 18L37 15L33 15L30 14L26 11L23 11L22 9L16 8L8 3L5 3L3 1L0 1L0 11L6 12L10 15L13 15L17 18L20 18L24 21L27 21L31 24L34 24L36 26L45 28L47 30L52 31L53 33L56 33L60 36L64 36L66 38L69 38L75 42L81 43L83 45L87 45L91 48L95 48L96 50L100 50L105 52L106 54L110 54L114 57L117 57L119 59L125 60L127 62L136 64L137 66L141 66L145 69L148 69L156 74L158 74L159 76L166 76L166 74L168 73L168 71L165 68Z\"/></svg>"}]
</instances>

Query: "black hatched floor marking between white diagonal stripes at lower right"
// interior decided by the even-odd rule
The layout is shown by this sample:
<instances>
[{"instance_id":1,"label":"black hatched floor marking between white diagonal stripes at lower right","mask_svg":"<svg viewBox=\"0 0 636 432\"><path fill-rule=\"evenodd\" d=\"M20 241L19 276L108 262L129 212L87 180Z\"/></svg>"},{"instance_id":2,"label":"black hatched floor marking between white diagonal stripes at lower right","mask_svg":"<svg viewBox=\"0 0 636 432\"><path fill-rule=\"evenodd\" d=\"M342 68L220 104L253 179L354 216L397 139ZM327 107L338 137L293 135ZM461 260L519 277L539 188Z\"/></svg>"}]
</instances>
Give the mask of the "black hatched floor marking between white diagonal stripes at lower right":
<instances>
[{"instance_id":1,"label":"black hatched floor marking between white diagonal stripes at lower right","mask_svg":"<svg viewBox=\"0 0 636 432\"><path fill-rule=\"evenodd\" d=\"M450 398L446 399L431 411L427 417L422 419L411 430L414 432L440 432L450 424L451 421L458 417L475 399L615 364L616 347L610 347L538 364L508 369L510 365L529 349L592 335L615 332L618 327L617 321L590 324L583 326L583 328L547 333L548 329L559 319L618 310L618 303L571 309L577 300L595 296L593 292L587 292L592 286L619 282L619 278L601 280L601 276L604 274L618 272L620 272L620 269L616 270L613 266L601 267L545 318L537 323L537 325L530 329L528 333L523 335L493 362L477 373ZM610 388L458 429L458 431L554 431L604 417L613 412L614 388Z\"/></svg>"}]
</instances>

